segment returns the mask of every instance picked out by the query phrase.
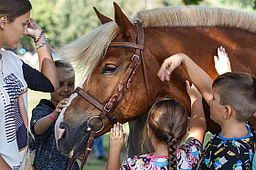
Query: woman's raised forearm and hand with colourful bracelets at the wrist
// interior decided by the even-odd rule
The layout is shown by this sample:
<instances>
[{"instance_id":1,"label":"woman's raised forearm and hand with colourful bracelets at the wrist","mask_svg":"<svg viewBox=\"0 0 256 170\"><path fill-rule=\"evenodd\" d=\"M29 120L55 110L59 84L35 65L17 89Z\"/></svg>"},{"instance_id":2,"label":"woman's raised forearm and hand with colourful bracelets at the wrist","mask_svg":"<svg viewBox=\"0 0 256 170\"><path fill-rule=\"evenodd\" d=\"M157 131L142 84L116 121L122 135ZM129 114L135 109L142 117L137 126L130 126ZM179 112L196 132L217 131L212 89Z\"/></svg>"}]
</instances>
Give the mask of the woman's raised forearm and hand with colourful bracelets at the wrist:
<instances>
[{"instance_id":1,"label":"woman's raised forearm and hand with colourful bracelets at the wrist","mask_svg":"<svg viewBox=\"0 0 256 170\"><path fill-rule=\"evenodd\" d=\"M34 40L40 35L42 29L39 25L31 18L28 24L28 36L32 37ZM42 35L41 38L37 41L36 45L41 45L46 40L46 36ZM37 49L37 54L39 58L39 71L45 75L51 84L54 86L54 89L59 88L59 79L54 65L52 56L50 54L48 43L42 45Z\"/></svg>"}]
</instances>

